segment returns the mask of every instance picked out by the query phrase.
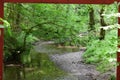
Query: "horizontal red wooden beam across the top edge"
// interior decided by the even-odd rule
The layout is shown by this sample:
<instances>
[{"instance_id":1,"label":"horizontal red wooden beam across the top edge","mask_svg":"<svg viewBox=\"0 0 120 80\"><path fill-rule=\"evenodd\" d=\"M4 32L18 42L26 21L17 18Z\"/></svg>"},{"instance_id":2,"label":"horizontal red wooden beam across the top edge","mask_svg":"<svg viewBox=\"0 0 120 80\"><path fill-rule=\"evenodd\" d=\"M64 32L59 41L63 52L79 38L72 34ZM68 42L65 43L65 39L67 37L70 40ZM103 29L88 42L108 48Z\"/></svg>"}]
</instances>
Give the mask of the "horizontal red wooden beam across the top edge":
<instances>
[{"instance_id":1,"label":"horizontal red wooden beam across the top edge","mask_svg":"<svg viewBox=\"0 0 120 80\"><path fill-rule=\"evenodd\" d=\"M110 4L114 0L4 0L5 2L22 3L72 3L72 4Z\"/></svg>"}]
</instances>

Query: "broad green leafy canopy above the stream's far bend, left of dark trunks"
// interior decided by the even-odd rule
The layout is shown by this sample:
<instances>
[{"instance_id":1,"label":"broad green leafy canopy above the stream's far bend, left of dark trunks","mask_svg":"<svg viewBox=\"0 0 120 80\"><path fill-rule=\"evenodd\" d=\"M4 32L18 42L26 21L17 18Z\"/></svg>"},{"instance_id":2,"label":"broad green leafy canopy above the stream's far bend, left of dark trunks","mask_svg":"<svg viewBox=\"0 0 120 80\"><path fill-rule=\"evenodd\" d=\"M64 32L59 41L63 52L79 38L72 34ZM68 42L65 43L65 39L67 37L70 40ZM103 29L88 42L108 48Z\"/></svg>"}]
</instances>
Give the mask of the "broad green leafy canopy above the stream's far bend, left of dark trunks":
<instances>
[{"instance_id":1,"label":"broad green leafy canopy above the stream's far bend, left of dark trunks","mask_svg":"<svg viewBox=\"0 0 120 80\"><path fill-rule=\"evenodd\" d=\"M21 26L34 26L33 34L43 40L53 40L62 45L79 45L80 32L87 31L88 14L84 5L66 4L21 4ZM83 13L80 13L80 12ZM31 14L32 13L32 14ZM49 13L49 14L48 14ZM31 18L32 17L32 18ZM33 20L33 18L35 20ZM30 23L32 22L32 23ZM30 23L26 25L26 23ZM85 24L84 24L85 23ZM37 25L36 25L37 24Z\"/></svg>"}]
</instances>

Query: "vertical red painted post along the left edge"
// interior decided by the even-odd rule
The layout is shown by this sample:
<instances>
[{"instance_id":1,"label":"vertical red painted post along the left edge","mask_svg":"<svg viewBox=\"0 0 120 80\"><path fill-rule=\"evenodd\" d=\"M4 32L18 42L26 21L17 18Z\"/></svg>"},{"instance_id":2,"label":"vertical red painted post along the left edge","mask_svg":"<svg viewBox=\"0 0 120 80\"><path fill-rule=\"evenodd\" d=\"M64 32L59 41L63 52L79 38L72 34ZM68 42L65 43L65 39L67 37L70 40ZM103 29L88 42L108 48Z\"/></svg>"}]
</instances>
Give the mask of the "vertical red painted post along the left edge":
<instances>
[{"instance_id":1,"label":"vertical red painted post along the left edge","mask_svg":"<svg viewBox=\"0 0 120 80\"><path fill-rule=\"evenodd\" d=\"M0 17L3 18L4 16L4 2L0 0ZM0 22L2 24L2 22ZM0 80L3 80L3 27L0 26Z\"/></svg>"}]
</instances>

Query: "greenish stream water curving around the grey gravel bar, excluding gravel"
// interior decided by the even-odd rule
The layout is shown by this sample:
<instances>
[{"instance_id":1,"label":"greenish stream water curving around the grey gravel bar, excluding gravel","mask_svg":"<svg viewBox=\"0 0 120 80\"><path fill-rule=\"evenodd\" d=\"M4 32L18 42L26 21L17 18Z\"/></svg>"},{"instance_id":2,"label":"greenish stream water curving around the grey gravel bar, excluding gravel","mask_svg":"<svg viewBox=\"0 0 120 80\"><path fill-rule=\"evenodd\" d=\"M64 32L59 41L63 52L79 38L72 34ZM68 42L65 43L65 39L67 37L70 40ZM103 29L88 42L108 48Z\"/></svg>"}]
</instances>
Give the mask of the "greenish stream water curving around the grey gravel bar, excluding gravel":
<instances>
[{"instance_id":1,"label":"greenish stream water curving around the grey gravel bar, excluding gravel","mask_svg":"<svg viewBox=\"0 0 120 80\"><path fill-rule=\"evenodd\" d=\"M50 54L63 54L78 50L38 44L31 50L29 60L26 59L24 66L10 64L4 67L4 80L78 80L74 76L68 76L49 58Z\"/></svg>"}]
</instances>

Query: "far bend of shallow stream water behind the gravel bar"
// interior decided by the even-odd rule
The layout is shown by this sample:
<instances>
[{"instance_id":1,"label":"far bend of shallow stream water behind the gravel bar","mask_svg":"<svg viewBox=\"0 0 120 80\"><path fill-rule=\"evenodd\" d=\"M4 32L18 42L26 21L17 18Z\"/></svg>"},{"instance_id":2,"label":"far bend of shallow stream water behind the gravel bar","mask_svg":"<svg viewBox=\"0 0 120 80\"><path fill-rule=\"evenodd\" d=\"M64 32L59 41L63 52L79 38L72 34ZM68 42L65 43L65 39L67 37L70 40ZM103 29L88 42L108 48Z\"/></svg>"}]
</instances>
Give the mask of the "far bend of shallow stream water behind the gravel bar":
<instances>
[{"instance_id":1,"label":"far bend of shallow stream water behind the gravel bar","mask_svg":"<svg viewBox=\"0 0 120 80\"><path fill-rule=\"evenodd\" d=\"M62 47L56 46L51 43L46 42L38 42L34 46L35 51L40 53L48 53L48 54L61 54L61 53L68 53L68 52L76 52L79 51L79 48L76 47Z\"/></svg>"}]
</instances>

